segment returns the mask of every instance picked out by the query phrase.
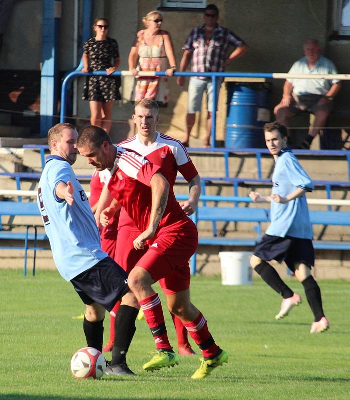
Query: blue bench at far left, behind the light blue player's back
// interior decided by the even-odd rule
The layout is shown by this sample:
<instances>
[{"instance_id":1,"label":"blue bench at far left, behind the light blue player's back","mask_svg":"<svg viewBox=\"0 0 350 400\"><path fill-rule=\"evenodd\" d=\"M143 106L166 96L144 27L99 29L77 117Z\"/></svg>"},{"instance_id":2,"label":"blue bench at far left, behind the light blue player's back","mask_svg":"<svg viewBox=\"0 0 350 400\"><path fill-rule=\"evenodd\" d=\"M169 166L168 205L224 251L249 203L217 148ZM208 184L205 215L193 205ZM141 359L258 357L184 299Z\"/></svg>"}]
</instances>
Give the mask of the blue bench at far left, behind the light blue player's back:
<instances>
[{"instance_id":1,"label":"blue bench at far left, behind the light blue player's back","mask_svg":"<svg viewBox=\"0 0 350 400\"><path fill-rule=\"evenodd\" d=\"M40 216L40 211L36 202L24 202L24 201L0 201L0 218L2 216ZM0 248L13 249L13 250L25 250L24 259L24 274L27 275L27 253L28 250L33 250L33 275L35 275L35 263L37 250L49 249L49 247L38 246L38 241L49 240L45 233L38 233L37 226L33 224L25 225L26 230L24 232L13 232L12 230L5 230L0 219L0 240L24 240L23 246L9 246L2 245ZM33 233L30 230L33 229ZM29 245L29 241L33 240L33 246Z\"/></svg>"}]
</instances>

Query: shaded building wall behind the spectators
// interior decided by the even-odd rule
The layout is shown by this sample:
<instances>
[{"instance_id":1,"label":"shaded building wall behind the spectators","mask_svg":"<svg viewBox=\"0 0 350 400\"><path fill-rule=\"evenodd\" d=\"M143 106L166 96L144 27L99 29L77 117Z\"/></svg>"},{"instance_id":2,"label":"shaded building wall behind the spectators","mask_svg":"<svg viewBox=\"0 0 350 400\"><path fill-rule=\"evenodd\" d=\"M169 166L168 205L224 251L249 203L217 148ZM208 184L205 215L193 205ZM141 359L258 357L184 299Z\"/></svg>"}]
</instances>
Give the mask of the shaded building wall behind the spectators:
<instances>
[{"instance_id":1,"label":"shaded building wall behind the spectators","mask_svg":"<svg viewBox=\"0 0 350 400\"><path fill-rule=\"evenodd\" d=\"M80 7L82 0L80 0ZM118 40L121 68L128 68L128 53L137 30L143 28L142 16L156 9L159 0L95 0L93 17L106 16L110 19L110 36ZM291 64L302 56L302 43L310 37L318 38L324 54L337 65L339 72L348 72L350 41L329 41L330 0L217 0L220 10L219 23L233 30L249 45L248 53L232 62L228 71L287 72ZM74 1L62 1L60 69L67 71L78 61L73 59L73 15ZM191 29L203 23L202 11L164 11L163 28L172 36L177 64L182 56L182 46ZM81 20L81 17L80 17ZM40 70L42 42L42 1L15 1L4 35L4 46L0 53L0 69ZM159 129L182 138L184 114L187 103L187 82L184 88L176 85L175 78L169 79L170 101L161 109ZM78 84L78 123L86 123L90 111L88 101L80 100L84 79ZM272 105L281 96L283 80L273 80ZM133 105L129 98L133 85L132 77L123 78L123 99L116 102L113 119L121 121L113 126L116 137L123 138L130 130ZM337 106L346 108L348 102L347 82L339 95ZM219 113L218 135L223 138L225 130L226 95L222 90ZM205 107L197 118L192 135L200 137L205 130ZM345 121L344 121L345 123ZM131 130L130 130L131 131ZM198 142L199 143L199 142Z\"/></svg>"}]
</instances>

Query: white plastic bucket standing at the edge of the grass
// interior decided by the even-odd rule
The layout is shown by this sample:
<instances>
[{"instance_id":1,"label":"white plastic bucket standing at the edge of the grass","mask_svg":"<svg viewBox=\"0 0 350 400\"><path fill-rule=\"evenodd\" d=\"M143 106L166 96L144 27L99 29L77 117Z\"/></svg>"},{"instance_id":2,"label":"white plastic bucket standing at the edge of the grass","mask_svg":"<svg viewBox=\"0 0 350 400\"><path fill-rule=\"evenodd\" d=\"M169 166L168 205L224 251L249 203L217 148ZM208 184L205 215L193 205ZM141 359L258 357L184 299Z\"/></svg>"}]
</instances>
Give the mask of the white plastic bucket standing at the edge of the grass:
<instances>
[{"instance_id":1,"label":"white plastic bucket standing at the edge of the grass","mask_svg":"<svg viewBox=\"0 0 350 400\"><path fill-rule=\"evenodd\" d=\"M226 285L251 284L252 268L249 251L220 251L221 283Z\"/></svg>"}]
</instances>

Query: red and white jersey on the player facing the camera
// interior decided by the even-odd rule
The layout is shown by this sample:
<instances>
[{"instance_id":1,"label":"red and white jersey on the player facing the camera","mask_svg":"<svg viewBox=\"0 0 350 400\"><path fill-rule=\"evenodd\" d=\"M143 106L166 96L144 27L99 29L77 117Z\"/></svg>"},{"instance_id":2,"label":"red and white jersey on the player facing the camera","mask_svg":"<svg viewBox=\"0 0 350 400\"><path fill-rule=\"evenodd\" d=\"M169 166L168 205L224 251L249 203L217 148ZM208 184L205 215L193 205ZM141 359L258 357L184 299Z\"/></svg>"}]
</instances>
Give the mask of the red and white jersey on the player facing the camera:
<instances>
[{"instance_id":1,"label":"red and white jersey on the player facing the camera","mask_svg":"<svg viewBox=\"0 0 350 400\"><path fill-rule=\"evenodd\" d=\"M135 136L122 141L119 145L136 151L143 155L148 161L161 166L160 172L167 178L170 184L169 191L173 192L173 186L178 171L187 181L192 180L198 174L186 148L179 140L157 132L155 141L146 146L140 141L139 135L140 134L137 133ZM124 209L122 209L120 213L118 230L122 228L138 230L133 220Z\"/></svg>"}]
</instances>

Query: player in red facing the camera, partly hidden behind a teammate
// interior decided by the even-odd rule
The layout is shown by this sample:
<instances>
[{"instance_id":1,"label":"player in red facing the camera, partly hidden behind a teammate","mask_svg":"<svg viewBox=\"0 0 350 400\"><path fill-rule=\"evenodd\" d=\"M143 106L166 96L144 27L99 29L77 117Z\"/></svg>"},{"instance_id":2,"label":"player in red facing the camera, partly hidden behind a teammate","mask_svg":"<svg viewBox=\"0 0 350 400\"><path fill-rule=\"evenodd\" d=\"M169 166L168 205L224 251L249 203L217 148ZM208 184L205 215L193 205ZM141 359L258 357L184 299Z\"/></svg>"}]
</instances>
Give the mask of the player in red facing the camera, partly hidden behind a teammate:
<instances>
[{"instance_id":1,"label":"player in red facing the camera, partly hidden behind a teammate","mask_svg":"<svg viewBox=\"0 0 350 400\"><path fill-rule=\"evenodd\" d=\"M141 127L141 120L138 118L139 111L142 113L142 108L157 109L157 107L157 103L153 100L141 100L135 107L135 114L133 115L138 133L132 138L122 141L118 145L133 150L143 155L150 162L160 165L162 167L162 174L170 183L170 190L173 190L176 175L179 171L189 184L189 199L182 202L180 205L187 215L191 215L197 208L201 186L197 169L193 165L185 147L179 140L157 132L155 125L153 130L150 130L148 127L143 129ZM158 119L159 117L157 116L156 123ZM108 198L106 194L105 198ZM106 204L106 206L107 205L109 204ZM105 207L103 206L102 209L103 208ZM146 252L145 249L136 250L133 245L134 239L136 239L140 233L134 221L129 217L125 209L122 208L118 223L118 240L114 259L128 273L130 273L131 269L137 264L137 261ZM195 354L188 341L187 329L176 315L171 313L171 317L176 329L178 353L182 355ZM111 324L112 323L114 327L114 320L112 322L111 319ZM111 329L110 341L113 341L113 339L114 328L113 331Z\"/></svg>"}]
</instances>

